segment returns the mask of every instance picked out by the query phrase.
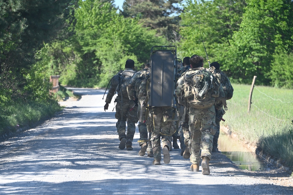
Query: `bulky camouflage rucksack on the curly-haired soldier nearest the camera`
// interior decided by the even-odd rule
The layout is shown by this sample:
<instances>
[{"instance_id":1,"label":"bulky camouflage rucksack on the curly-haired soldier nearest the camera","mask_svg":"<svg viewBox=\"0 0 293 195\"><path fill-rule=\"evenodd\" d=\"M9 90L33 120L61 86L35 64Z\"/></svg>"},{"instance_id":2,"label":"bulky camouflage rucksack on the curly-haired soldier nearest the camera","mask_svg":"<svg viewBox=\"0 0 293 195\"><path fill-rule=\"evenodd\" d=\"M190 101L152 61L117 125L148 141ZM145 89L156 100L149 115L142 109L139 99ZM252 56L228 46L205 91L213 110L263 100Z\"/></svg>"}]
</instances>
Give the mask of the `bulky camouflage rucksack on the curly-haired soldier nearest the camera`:
<instances>
[{"instance_id":1,"label":"bulky camouflage rucksack on the curly-haired soldier nearest the camera","mask_svg":"<svg viewBox=\"0 0 293 195\"><path fill-rule=\"evenodd\" d=\"M184 73L184 99L192 108L209 108L219 96L219 85L205 68L195 68Z\"/></svg>"}]
</instances>

